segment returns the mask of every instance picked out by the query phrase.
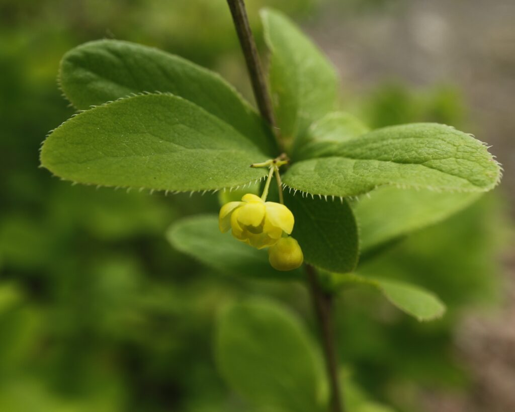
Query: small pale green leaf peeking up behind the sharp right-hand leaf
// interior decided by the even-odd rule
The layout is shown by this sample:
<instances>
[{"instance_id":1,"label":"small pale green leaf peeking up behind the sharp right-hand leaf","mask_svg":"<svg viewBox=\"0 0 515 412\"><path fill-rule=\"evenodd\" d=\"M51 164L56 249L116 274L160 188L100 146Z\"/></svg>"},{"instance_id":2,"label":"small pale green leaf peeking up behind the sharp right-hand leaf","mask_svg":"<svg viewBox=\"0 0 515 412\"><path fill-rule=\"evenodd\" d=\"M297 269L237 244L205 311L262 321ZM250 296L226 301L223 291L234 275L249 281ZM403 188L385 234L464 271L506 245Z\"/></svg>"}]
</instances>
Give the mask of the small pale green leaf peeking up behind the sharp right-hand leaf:
<instances>
[{"instance_id":1,"label":"small pale green leaf peeking up behind the sharp right-hand leaf","mask_svg":"<svg viewBox=\"0 0 515 412\"><path fill-rule=\"evenodd\" d=\"M319 157L339 143L365 134L370 129L357 117L345 112L332 112L313 123L293 148L293 158L298 161Z\"/></svg>"}]
</instances>

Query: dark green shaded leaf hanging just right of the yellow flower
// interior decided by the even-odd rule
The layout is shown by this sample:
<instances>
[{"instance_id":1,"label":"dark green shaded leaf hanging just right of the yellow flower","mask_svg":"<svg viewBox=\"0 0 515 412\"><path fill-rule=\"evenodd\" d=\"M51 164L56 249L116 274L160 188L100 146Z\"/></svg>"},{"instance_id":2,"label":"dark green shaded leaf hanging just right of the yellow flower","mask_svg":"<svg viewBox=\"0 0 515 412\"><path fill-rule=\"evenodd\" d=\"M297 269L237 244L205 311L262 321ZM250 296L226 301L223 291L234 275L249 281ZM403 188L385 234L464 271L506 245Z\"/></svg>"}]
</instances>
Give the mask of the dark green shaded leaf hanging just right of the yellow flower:
<instances>
[{"instance_id":1,"label":"dark green shaded leaf hanging just right of the yellow flower","mask_svg":"<svg viewBox=\"0 0 515 412\"><path fill-rule=\"evenodd\" d=\"M326 201L285 192L285 204L295 216L291 235L299 242L306 262L333 272L354 270L358 235L346 199Z\"/></svg>"}]
</instances>

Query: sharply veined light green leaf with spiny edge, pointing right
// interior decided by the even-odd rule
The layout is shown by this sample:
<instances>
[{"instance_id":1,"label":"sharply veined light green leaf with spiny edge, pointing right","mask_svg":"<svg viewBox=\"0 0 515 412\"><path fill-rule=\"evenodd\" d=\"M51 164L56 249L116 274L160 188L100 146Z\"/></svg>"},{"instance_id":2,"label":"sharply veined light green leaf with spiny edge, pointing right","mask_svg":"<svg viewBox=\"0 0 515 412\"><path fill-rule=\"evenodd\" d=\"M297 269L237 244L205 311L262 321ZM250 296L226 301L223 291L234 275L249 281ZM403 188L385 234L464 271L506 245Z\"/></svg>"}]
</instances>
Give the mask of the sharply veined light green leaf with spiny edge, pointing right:
<instances>
[{"instance_id":1,"label":"sharply veined light green leaf with spiny edge, pointing right","mask_svg":"<svg viewBox=\"0 0 515 412\"><path fill-rule=\"evenodd\" d=\"M500 167L481 142L432 123L377 129L325 154L293 164L283 182L312 194L356 196L385 185L486 192L500 180Z\"/></svg>"}]
</instances>

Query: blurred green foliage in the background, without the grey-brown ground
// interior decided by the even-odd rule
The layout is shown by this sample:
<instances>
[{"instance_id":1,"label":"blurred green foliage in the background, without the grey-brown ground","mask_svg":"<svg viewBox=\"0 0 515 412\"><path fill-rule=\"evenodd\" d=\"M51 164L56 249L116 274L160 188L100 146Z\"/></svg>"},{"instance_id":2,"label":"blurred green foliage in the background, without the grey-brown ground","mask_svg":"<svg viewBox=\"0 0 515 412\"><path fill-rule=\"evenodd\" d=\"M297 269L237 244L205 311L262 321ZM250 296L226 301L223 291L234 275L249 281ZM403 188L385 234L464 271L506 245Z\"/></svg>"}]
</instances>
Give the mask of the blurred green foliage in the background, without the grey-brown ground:
<instances>
[{"instance_id":1,"label":"blurred green foliage in the background, without the grey-brown ground","mask_svg":"<svg viewBox=\"0 0 515 412\"><path fill-rule=\"evenodd\" d=\"M248 3L259 39L262 6L313 25L328 2ZM333 8L389 13L403 3L348 0ZM104 37L159 46L207 65L249 97L221 0L0 0L0 410L251 410L214 367L215 315L239 297L272 296L294 307L315 332L305 290L220 276L169 247L164 231L170 223L215 212L216 196L71 186L37 167L45 132L74 113L56 85L61 56ZM449 84L415 88L389 80L345 94L347 109L372 127L470 122L459 88ZM372 290L346 290L337 305L346 373L399 411L420 412L427 389L470 391L467 364L454 348L456 328L471 307L502 302L500 256L510 235L496 191L370 259L364 274L425 286L449 311L417 323Z\"/></svg>"}]
</instances>

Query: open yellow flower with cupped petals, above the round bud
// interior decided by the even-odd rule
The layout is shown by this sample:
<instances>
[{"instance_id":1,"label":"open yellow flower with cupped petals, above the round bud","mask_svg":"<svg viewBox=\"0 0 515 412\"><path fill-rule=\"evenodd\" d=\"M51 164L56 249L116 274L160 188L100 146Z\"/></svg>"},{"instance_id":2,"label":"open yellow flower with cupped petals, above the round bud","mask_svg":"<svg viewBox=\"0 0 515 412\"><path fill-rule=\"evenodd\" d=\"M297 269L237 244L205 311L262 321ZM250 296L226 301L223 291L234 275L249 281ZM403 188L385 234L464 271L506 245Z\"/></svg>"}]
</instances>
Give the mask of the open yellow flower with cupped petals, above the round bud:
<instances>
[{"instance_id":1,"label":"open yellow flower with cupped petals, above the round bud","mask_svg":"<svg viewBox=\"0 0 515 412\"><path fill-rule=\"evenodd\" d=\"M236 239L258 249L276 244L283 233L291 233L293 225L293 214L284 204L265 202L250 193L220 209L220 231L232 229Z\"/></svg>"}]
</instances>

